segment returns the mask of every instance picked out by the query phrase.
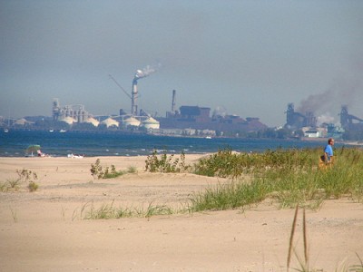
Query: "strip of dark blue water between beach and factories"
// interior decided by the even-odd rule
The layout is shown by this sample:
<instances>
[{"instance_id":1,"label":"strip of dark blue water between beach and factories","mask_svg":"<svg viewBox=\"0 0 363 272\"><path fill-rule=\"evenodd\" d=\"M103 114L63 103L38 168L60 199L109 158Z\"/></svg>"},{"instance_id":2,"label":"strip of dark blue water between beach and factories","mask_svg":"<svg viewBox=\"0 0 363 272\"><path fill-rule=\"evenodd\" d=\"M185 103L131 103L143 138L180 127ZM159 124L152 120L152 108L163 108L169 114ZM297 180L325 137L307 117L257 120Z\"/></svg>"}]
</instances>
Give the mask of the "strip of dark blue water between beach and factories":
<instances>
[{"instance_id":1,"label":"strip of dark blue water between beach and factories","mask_svg":"<svg viewBox=\"0 0 363 272\"><path fill-rule=\"evenodd\" d=\"M138 156L153 150L168 153L209 153L224 148L233 151L322 148L325 141L288 141L226 138L182 138L116 132L80 131L9 131L0 132L0 157L24 157L28 146L39 144L42 151L52 156L82 154L85 156Z\"/></svg>"}]
</instances>

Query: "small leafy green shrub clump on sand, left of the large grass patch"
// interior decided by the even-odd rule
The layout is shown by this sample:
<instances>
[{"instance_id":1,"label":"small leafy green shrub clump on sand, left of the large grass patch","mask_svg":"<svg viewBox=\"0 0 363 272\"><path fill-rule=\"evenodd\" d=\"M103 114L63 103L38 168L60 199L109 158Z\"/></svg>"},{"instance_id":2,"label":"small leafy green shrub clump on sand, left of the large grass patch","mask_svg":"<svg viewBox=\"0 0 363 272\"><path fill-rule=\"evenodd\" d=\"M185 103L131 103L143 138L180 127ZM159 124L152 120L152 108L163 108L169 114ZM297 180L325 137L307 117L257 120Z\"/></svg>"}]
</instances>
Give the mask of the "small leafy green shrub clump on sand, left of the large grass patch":
<instances>
[{"instance_id":1,"label":"small leafy green shrub clump on sand, left of the large grass patch","mask_svg":"<svg viewBox=\"0 0 363 272\"><path fill-rule=\"evenodd\" d=\"M145 160L145 170L150 172L175 173L189 169L189 165L185 164L185 154L182 152L180 158L174 158L174 155L167 155L166 151L158 156L157 151L152 151Z\"/></svg>"}]
</instances>

